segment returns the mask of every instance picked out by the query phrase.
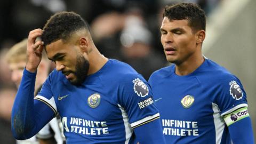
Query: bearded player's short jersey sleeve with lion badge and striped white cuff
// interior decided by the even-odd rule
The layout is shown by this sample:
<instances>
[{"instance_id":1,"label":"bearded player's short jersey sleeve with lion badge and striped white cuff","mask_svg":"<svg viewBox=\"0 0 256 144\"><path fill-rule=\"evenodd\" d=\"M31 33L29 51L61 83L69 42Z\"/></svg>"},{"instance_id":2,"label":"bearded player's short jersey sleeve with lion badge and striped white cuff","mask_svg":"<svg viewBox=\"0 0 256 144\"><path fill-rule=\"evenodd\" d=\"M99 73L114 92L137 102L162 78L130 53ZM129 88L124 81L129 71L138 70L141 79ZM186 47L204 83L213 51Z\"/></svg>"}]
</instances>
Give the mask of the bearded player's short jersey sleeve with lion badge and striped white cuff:
<instances>
[{"instance_id":1,"label":"bearded player's short jersey sleeve with lion badge and striped white cuff","mask_svg":"<svg viewBox=\"0 0 256 144\"><path fill-rule=\"evenodd\" d=\"M120 84L118 95L118 101L126 111L133 129L159 118L151 89L140 75L126 76Z\"/></svg>"}]
</instances>

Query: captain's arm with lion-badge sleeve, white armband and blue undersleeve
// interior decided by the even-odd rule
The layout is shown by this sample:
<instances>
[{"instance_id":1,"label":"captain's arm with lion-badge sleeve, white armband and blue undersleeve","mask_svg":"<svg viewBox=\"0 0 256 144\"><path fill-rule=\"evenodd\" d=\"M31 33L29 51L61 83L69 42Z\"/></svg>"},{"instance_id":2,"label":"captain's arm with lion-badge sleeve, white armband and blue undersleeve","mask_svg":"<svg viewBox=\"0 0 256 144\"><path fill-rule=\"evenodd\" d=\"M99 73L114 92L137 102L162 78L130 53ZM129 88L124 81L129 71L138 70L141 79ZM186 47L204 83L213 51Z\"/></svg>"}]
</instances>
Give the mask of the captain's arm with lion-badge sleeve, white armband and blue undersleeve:
<instances>
[{"instance_id":1,"label":"captain's arm with lion-badge sleeve, white armband and blue undersleeve","mask_svg":"<svg viewBox=\"0 0 256 144\"><path fill-rule=\"evenodd\" d=\"M217 103L233 143L253 143L252 124L243 85L237 77L230 76L222 81L220 89Z\"/></svg>"}]
</instances>

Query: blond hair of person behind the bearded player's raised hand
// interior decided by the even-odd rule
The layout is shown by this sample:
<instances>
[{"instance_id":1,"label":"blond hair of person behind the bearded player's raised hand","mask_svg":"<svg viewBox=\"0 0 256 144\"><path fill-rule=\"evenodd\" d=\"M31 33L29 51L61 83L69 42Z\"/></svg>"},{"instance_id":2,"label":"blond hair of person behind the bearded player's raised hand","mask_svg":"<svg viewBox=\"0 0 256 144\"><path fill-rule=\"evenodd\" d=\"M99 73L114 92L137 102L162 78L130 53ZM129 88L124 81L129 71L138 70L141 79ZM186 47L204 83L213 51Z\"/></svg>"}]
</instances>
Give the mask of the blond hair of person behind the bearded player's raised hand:
<instances>
[{"instance_id":1,"label":"blond hair of person behind the bearded player's raised hand","mask_svg":"<svg viewBox=\"0 0 256 144\"><path fill-rule=\"evenodd\" d=\"M28 39L23 39L21 42L13 45L6 53L5 59L7 63L26 62L27 60L27 42ZM47 59L46 53L43 51L42 59Z\"/></svg>"}]
</instances>

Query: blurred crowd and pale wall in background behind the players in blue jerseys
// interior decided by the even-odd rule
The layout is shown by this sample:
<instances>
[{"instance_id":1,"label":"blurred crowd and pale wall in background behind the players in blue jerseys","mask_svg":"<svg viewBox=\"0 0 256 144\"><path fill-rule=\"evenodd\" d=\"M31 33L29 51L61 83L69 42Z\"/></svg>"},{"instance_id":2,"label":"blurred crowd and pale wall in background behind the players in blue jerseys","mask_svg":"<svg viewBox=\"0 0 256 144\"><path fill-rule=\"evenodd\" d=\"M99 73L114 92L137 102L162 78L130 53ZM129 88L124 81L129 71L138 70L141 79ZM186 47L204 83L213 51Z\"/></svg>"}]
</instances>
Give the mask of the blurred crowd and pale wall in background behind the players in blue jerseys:
<instances>
[{"instance_id":1,"label":"blurred crowd and pale wall in background behind the players in blue jerseys","mask_svg":"<svg viewBox=\"0 0 256 144\"><path fill-rule=\"evenodd\" d=\"M1 0L0 1L0 143L15 143L10 115L17 88L8 69L6 52L43 28L59 11L74 11L91 26L95 45L107 58L129 63L146 79L169 65L160 42L159 27L166 4L193 2L205 10L203 52L240 78L247 92L249 114L256 129L256 65L254 0ZM54 66L53 66L54 67Z\"/></svg>"}]
</instances>

